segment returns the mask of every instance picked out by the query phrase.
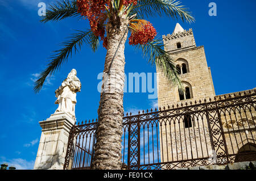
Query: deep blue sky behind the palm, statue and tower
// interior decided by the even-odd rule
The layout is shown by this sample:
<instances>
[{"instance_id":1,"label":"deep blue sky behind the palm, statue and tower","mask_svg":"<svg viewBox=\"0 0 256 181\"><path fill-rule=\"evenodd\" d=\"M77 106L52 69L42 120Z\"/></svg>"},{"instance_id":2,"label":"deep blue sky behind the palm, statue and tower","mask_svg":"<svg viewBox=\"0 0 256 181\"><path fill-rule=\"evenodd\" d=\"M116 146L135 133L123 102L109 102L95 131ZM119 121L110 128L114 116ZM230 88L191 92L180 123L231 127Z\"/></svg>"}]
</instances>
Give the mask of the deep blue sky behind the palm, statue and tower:
<instances>
[{"instance_id":1,"label":"deep blue sky behind the palm, statue and tower","mask_svg":"<svg viewBox=\"0 0 256 181\"><path fill-rule=\"evenodd\" d=\"M40 71L46 68L53 50L75 30L88 28L86 20L68 18L61 22L40 23L38 3L48 0L0 0L0 163L7 162L18 169L32 169L38 150L41 128L38 121L47 119L57 105L54 91L71 69L77 70L82 83L77 94L77 120L97 118L100 93L99 73L104 69L105 48L93 53L86 45L69 58L43 90L35 94L32 85ZM193 28L197 46L204 45L208 66L212 70L216 95L253 89L256 56L256 1L183 0L196 18L192 24L166 17L149 18L158 36L174 31L175 24ZM217 4L217 16L209 16L209 3ZM143 59L127 43L126 74L155 73L155 67ZM125 111L137 111L157 106L157 99L148 99L148 92L125 93Z\"/></svg>"}]
</instances>

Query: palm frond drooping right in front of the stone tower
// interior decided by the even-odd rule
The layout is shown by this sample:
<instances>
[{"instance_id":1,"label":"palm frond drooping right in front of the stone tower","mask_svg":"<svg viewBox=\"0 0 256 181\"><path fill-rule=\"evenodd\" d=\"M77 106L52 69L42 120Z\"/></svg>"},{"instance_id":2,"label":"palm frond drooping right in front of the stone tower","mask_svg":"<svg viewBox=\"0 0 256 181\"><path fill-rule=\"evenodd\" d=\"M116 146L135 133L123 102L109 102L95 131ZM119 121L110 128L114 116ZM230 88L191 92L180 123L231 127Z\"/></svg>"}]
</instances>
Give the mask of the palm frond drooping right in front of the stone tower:
<instances>
[{"instance_id":1,"label":"palm frond drooping right in front of the stone tower","mask_svg":"<svg viewBox=\"0 0 256 181\"><path fill-rule=\"evenodd\" d=\"M163 72L171 85L178 86L180 91L184 90L174 64L174 59L164 50L162 41L155 39L148 42L146 45L138 44L135 48L142 50L143 56L148 58L149 63L156 65L156 67Z\"/></svg>"}]
</instances>

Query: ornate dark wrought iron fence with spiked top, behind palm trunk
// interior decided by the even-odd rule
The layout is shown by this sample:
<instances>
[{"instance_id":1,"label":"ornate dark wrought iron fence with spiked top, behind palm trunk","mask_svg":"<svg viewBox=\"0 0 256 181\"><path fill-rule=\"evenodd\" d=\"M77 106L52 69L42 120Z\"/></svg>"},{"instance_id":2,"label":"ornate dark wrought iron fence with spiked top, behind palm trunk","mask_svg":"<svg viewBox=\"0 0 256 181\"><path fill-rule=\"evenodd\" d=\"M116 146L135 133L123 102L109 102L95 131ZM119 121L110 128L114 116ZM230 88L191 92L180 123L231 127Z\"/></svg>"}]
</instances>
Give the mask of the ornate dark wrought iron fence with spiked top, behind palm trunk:
<instances>
[{"instance_id":1,"label":"ornate dark wrought iron fence with spiked top, behind palm trunk","mask_svg":"<svg viewBox=\"0 0 256 181\"><path fill-rule=\"evenodd\" d=\"M177 169L256 160L256 90L123 117L125 169ZM75 125L64 169L90 169L97 120Z\"/></svg>"}]
</instances>

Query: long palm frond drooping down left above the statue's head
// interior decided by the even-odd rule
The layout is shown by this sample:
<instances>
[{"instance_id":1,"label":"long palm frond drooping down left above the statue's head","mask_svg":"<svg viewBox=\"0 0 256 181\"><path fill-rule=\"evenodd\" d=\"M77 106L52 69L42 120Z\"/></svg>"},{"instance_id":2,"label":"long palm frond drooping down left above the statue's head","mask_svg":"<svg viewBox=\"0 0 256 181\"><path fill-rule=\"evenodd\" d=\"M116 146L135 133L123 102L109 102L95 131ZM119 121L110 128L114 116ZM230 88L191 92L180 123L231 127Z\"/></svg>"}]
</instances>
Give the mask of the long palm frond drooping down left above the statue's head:
<instances>
[{"instance_id":1,"label":"long palm frond drooping down left above the statue's head","mask_svg":"<svg viewBox=\"0 0 256 181\"><path fill-rule=\"evenodd\" d=\"M61 64L64 61L67 62L68 57L72 56L72 51L75 50L76 53L84 43L89 44L93 51L95 51L98 48L99 40L92 31L77 31L77 33L73 33L65 43L62 43L64 48L55 51L56 54L50 57L51 61L47 65L47 68L40 73L39 79L34 83L34 91L39 92L47 76L55 73Z\"/></svg>"}]
</instances>

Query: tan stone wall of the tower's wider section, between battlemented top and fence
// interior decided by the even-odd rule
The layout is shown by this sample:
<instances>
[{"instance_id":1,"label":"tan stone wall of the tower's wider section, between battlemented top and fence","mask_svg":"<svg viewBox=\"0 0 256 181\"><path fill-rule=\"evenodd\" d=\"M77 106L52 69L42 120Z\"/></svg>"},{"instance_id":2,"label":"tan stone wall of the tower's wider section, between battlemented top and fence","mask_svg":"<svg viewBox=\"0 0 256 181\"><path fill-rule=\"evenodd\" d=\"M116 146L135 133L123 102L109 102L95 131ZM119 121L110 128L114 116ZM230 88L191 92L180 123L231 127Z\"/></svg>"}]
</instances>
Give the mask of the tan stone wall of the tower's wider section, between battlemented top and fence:
<instances>
[{"instance_id":1,"label":"tan stone wall of the tower's wider section, between battlemented top and fence","mask_svg":"<svg viewBox=\"0 0 256 181\"><path fill-rule=\"evenodd\" d=\"M184 52L171 54L171 56L174 58L175 64L181 64L184 61L188 62L189 72L181 74L180 78L185 86L191 85L192 98L180 100L177 87L172 86L164 74L157 69L159 107L184 104L185 102L194 103L195 100L209 99L215 96L212 75L205 58L204 47L192 48Z\"/></svg>"}]
</instances>

